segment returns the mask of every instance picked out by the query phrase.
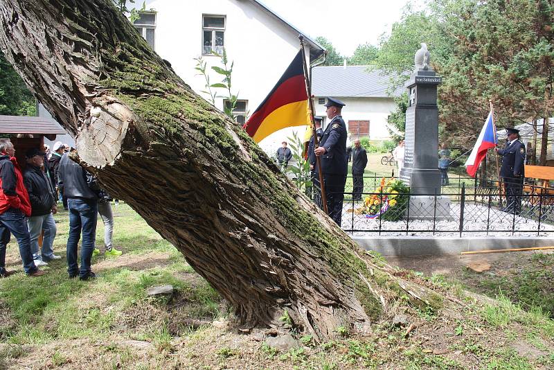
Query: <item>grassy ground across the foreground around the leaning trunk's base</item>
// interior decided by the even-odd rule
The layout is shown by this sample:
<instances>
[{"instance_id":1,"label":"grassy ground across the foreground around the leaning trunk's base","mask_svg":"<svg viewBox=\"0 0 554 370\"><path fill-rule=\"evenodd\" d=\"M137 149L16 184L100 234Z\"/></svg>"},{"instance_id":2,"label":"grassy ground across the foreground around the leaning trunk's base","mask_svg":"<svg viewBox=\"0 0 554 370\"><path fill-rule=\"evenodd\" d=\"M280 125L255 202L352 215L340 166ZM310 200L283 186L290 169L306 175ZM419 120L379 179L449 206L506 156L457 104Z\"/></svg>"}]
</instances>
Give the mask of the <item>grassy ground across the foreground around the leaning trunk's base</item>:
<instances>
[{"instance_id":1,"label":"grassy ground across the foreground around the leaning trunk's base","mask_svg":"<svg viewBox=\"0 0 554 370\"><path fill-rule=\"evenodd\" d=\"M68 279L64 259L50 263L48 274L41 278L31 279L19 272L0 279L0 369L12 365L94 365L99 369L465 368L452 353L434 355L433 348L421 341L422 336L435 335L437 330L452 332L452 336L445 336L448 345L456 342L456 349L479 358L481 369L530 369L537 363L545 367L554 364L552 340L548 339L554 336L554 321L537 306L524 310L523 305L512 303L506 296L499 297L494 305L479 306L479 315L473 312L473 316L464 316L467 319L444 324L448 328L443 328L443 321L438 322L442 318L440 310L413 310L411 319L418 324L413 337L404 337L405 328L391 328L389 317L372 325L373 333L368 337L356 336L345 325L337 328L334 340L318 343L306 334L298 337L300 347L276 351L247 335L206 324L228 315L219 294L129 206L122 204L114 211L114 245L124 254L119 258L105 258L103 254L93 258L93 271L99 276L95 281ZM67 213L56 218L60 222L55 252L64 256ZM101 222L98 225L97 245L101 246L103 227ZM551 266L550 257L534 258L541 266ZM379 258L378 262L384 260ZM8 265L21 270L15 243L8 245ZM443 290L458 289L443 276L427 280ZM175 296L154 298L145 294L151 286L164 284L174 286ZM284 326L292 324L288 313L282 317ZM508 342L526 340L542 351L544 358L531 362L506 343L497 348L496 344L488 344L484 335L471 337L476 327L494 330L494 335L500 333ZM148 353L122 344L127 340L149 342ZM75 342L83 347L78 344L76 349L71 348ZM82 358L85 346L97 355L90 362ZM203 352L206 347L208 351ZM27 365L29 359L40 365Z\"/></svg>"}]
</instances>

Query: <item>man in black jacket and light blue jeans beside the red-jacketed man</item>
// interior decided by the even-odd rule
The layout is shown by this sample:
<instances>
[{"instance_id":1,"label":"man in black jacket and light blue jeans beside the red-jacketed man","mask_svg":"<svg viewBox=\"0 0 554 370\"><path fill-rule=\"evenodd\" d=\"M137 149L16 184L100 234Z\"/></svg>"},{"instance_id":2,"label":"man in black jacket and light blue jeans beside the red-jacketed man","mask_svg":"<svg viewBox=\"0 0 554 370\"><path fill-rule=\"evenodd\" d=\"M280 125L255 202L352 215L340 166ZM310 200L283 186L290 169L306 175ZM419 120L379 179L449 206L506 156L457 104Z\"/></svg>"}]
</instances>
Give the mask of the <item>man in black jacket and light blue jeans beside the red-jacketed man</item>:
<instances>
[{"instance_id":1,"label":"man in black jacket and light blue jeans beside the red-jacketed man","mask_svg":"<svg viewBox=\"0 0 554 370\"><path fill-rule=\"evenodd\" d=\"M57 212L55 190L50 179L46 177L44 166L44 152L38 148L31 148L26 152L27 168L23 174L23 182L31 206L30 218L27 220L30 234L30 248L33 252L35 265L48 265L48 261L62 257L56 256L52 249L56 236L56 224L53 214ZM39 236L44 229L42 239L42 253L39 251Z\"/></svg>"}]
</instances>

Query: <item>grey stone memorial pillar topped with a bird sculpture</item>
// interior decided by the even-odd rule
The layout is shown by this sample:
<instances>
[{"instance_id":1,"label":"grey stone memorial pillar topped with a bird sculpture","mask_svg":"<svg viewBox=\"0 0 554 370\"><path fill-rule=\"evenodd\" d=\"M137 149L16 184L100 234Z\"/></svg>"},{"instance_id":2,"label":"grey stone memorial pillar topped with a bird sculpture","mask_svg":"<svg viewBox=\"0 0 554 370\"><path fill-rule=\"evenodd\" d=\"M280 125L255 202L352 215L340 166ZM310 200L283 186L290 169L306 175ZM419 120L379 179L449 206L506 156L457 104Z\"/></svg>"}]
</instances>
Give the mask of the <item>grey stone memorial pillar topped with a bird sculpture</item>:
<instances>
[{"instance_id":1,"label":"grey stone memorial pillar topped with a bird sculpture","mask_svg":"<svg viewBox=\"0 0 554 370\"><path fill-rule=\"evenodd\" d=\"M442 78L429 66L426 44L415 53L415 69L406 87L404 166L400 179L410 186L409 218L450 218L450 198L440 193L438 170L437 86ZM436 204L435 204L436 202Z\"/></svg>"}]
</instances>

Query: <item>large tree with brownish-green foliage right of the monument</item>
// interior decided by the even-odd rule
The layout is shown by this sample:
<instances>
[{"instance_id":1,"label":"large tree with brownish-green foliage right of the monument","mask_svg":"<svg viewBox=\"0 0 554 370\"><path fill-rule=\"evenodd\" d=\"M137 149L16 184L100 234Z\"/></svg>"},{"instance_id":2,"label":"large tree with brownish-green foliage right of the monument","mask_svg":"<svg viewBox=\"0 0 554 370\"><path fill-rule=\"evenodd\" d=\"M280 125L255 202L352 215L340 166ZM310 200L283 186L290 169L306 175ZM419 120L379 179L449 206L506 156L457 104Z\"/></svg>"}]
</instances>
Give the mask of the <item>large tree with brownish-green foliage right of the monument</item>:
<instances>
[{"instance_id":1,"label":"large tree with brownish-green foliage right of the monument","mask_svg":"<svg viewBox=\"0 0 554 370\"><path fill-rule=\"evenodd\" d=\"M436 0L452 53L438 66L441 117L450 132L479 134L494 103L499 127L554 111L554 5L547 0ZM543 130L541 164L548 130ZM467 137L467 136L466 136ZM467 142L467 139L464 139Z\"/></svg>"}]
</instances>

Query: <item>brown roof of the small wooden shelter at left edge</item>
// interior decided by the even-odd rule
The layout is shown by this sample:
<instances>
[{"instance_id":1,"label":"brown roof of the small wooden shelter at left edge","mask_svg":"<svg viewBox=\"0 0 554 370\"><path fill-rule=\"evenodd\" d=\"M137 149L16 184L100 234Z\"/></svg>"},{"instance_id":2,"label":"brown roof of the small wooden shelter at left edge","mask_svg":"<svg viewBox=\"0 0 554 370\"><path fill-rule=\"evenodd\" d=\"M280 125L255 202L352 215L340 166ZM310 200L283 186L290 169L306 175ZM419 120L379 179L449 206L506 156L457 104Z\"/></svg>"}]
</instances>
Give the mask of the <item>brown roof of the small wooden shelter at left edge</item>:
<instances>
[{"instance_id":1,"label":"brown roof of the small wooden shelter at left edge","mask_svg":"<svg viewBox=\"0 0 554 370\"><path fill-rule=\"evenodd\" d=\"M0 134L66 134L51 118L0 116Z\"/></svg>"}]
</instances>

